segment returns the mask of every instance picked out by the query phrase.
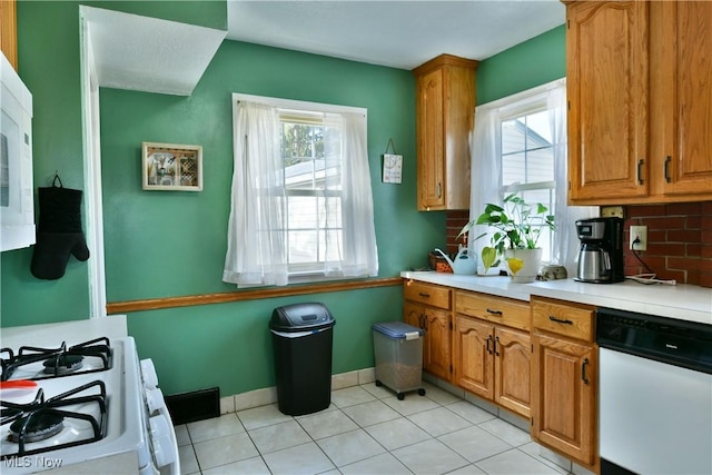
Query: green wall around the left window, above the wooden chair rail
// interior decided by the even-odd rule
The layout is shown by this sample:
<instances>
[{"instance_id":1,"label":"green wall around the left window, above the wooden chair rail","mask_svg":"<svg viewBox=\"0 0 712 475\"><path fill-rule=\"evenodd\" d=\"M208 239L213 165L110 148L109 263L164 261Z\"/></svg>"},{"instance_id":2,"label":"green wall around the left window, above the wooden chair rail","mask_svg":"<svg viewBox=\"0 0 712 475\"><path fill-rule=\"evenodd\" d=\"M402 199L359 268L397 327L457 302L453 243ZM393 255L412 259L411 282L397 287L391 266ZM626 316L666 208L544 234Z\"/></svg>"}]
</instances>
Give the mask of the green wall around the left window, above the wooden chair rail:
<instances>
[{"instance_id":1,"label":"green wall around the left window, above the wooden chair rail","mask_svg":"<svg viewBox=\"0 0 712 475\"><path fill-rule=\"evenodd\" d=\"M415 210L414 79L409 71L225 41L189 98L101 90L109 301L233 290L221 281L233 174L230 95L368 109L379 275L421 267L442 243L442 214ZM402 185L380 180L393 139ZM141 141L204 147L204 190L141 190ZM421 229L409 232L411 229Z\"/></svg>"}]
</instances>

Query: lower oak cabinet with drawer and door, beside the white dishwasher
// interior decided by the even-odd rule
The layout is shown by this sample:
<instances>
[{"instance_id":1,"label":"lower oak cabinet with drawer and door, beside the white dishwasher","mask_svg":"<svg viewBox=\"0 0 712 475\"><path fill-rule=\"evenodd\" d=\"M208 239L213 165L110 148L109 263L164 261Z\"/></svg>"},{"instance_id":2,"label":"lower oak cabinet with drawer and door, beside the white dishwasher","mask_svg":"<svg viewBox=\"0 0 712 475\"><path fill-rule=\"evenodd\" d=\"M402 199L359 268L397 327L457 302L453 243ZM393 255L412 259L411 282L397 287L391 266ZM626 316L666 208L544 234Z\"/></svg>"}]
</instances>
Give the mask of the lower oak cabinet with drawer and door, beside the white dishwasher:
<instances>
[{"instance_id":1,"label":"lower oak cabinet with drawer and door, beside the white dishwasher","mask_svg":"<svg viewBox=\"0 0 712 475\"><path fill-rule=\"evenodd\" d=\"M593 308L532 297L532 437L597 472Z\"/></svg>"}]
</instances>

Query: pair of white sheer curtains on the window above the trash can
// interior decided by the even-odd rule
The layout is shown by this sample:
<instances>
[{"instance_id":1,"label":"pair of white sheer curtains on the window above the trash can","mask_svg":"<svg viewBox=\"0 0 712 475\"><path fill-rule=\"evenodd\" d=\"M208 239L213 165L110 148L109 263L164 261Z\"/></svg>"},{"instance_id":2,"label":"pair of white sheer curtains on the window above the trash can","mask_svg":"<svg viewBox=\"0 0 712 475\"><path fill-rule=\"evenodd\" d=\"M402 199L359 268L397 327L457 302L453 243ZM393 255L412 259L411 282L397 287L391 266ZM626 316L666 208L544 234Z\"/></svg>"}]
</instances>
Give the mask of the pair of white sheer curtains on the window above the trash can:
<instances>
[{"instance_id":1,"label":"pair of white sheer curtains on the window above the trash can","mask_svg":"<svg viewBox=\"0 0 712 475\"><path fill-rule=\"evenodd\" d=\"M235 170L222 280L238 287L288 284L288 209L277 106L315 107L265 99L269 106L234 103ZM324 189L315 192L324 200L318 246L324 246L319 255L327 277L378 275L366 122L365 112L324 112L326 179Z\"/></svg>"}]
</instances>

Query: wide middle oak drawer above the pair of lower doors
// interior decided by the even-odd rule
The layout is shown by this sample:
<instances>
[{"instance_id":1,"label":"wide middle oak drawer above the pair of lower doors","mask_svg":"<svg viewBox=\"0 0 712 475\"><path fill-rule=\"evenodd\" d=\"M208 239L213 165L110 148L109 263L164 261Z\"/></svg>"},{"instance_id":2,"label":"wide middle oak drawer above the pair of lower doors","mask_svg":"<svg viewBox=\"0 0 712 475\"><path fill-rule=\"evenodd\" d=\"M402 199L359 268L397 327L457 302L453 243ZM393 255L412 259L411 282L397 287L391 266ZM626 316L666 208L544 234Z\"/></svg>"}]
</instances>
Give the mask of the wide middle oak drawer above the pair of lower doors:
<instances>
[{"instance_id":1,"label":"wide middle oak drawer above the pair of lower doors","mask_svg":"<svg viewBox=\"0 0 712 475\"><path fill-rule=\"evenodd\" d=\"M531 329L530 306L526 301L472 291L456 291L455 311L525 331Z\"/></svg>"}]
</instances>

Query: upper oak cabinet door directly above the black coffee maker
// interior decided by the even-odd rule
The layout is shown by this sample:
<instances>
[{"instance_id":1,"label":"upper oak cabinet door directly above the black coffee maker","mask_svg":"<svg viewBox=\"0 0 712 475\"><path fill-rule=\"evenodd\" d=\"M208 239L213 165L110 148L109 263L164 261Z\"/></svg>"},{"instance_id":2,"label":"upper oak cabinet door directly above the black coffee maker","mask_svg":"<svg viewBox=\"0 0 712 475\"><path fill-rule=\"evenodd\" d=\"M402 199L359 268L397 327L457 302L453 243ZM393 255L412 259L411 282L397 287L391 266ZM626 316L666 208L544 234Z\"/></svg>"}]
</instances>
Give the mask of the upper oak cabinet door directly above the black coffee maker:
<instances>
[{"instance_id":1,"label":"upper oak cabinet door directly above the black coffee maker","mask_svg":"<svg viewBox=\"0 0 712 475\"><path fill-rule=\"evenodd\" d=\"M649 194L647 2L566 8L568 176L572 202Z\"/></svg>"}]
</instances>

